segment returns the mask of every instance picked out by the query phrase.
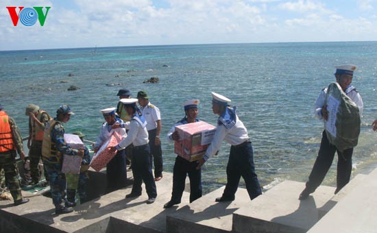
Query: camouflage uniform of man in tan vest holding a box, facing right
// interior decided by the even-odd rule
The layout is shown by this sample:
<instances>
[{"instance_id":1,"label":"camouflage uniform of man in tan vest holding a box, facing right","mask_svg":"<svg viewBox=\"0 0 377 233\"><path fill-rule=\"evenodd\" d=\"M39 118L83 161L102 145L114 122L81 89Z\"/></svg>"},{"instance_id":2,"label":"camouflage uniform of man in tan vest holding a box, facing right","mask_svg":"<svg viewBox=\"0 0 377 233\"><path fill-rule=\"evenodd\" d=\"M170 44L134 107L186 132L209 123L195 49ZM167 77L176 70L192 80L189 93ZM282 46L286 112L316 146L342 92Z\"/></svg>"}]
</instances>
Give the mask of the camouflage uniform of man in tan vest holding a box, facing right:
<instances>
[{"instance_id":1,"label":"camouflage uniform of man in tan vest holding a box, facing right","mask_svg":"<svg viewBox=\"0 0 377 233\"><path fill-rule=\"evenodd\" d=\"M53 204L56 209L62 208L62 200L66 201L66 176L62 173L62 154L77 155L77 149L72 149L66 143L64 143L64 127L57 118L54 119L56 125L51 130L51 142L55 143L54 149L57 149L60 153L60 160L48 160L43 158L43 166L46 168L49 175L49 182L51 188L51 196ZM67 202L66 202L67 203Z\"/></svg>"}]
</instances>

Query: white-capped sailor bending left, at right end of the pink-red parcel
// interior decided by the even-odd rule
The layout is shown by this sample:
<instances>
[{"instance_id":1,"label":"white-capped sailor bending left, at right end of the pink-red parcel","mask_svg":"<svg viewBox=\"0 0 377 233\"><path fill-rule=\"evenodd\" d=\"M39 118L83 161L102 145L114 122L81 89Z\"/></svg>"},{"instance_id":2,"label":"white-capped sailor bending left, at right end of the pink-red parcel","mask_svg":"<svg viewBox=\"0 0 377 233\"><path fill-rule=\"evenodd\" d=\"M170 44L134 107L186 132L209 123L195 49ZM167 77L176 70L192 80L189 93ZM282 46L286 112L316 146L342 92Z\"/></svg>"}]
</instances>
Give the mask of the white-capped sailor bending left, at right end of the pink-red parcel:
<instances>
[{"instance_id":1,"label":"white-capped sailor bending left, at right end of the pink-red parcel","mask_svg":"<svg viewBox=\"0 0 377 233\"><path fill-rule=\"evenodd\" d=\"M141 184L144 182L148 195L147 204L152 204L157 197L157 190L151 170L151 151L148 144L147 121L145 121L143 114L141 114L141 111L136 106L137 101L138 99L121 99L125 110L127 110L128 114L132 115L132 119L127 123L119 125L120 127L126 127L128 134L117 146L112 147L110 150L115 151L116 149L125 148L131 143L134 145L132 149L134 185L132 186L131 193L125 197L140 196L142 191Z\"/></svg>"}]
</instances>

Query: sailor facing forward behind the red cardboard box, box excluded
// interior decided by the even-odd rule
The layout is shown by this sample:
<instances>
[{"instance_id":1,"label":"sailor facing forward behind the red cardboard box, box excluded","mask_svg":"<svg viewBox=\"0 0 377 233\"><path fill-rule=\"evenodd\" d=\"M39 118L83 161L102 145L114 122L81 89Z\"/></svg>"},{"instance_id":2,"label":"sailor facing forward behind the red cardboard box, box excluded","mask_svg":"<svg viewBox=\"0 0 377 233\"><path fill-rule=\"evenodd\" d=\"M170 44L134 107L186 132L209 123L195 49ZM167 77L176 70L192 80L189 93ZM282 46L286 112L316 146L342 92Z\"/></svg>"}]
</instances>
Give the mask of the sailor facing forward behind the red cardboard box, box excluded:
<instances>
[{"instance_id":1,"label":"sailor facing forward behind the red cardboard box, box excluded","mask_svg":"<svg viewBox=\"0 0 377 233\"><path fill-rule=\"evenodd\" d=\"M184 103L184 112L186 113L186 116L184 116L182 120L175 123L167 134L167 139L169 142L182 140L178 134L178 131L175 130L175 126L199 121L197 119L198 104L198 99L189 100ZM202 169L196 169L196 167L197 161L189 162L181 156L177 156L177 158L175 158L173 168L173 191L171 193L170 201L164 205L164 208L171 208L172 206L181 203L187 174L189 174L190 179L190 202L202 197Z\"/></svg>"}]
</instances>

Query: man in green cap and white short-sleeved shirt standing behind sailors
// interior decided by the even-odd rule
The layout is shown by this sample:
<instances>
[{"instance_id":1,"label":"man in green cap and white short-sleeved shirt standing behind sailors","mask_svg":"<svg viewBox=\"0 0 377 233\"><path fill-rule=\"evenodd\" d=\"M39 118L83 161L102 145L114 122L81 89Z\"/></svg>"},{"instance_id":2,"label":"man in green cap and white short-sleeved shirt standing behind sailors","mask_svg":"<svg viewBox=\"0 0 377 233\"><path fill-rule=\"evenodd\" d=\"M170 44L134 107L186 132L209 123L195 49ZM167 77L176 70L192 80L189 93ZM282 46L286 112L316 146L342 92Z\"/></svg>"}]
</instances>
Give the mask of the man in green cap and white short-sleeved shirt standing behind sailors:
<instances>
[{"instance_id":1,"label":"man in green cap and white short-sleeved shirt standing behind sailors","mask_svg":"<svg viewBox=\"0 0 377 233\"><path fill-rule=\"evenodd\" d=\"M151 155L154 160L154 180L159 181L162 179L162 149L160 141L162 125L160 110L149 102L149 96L144 90L138 92L137 99L141 106L141 113L147 121L149 147L151 147Z\"/></svg>"}]
</instances>

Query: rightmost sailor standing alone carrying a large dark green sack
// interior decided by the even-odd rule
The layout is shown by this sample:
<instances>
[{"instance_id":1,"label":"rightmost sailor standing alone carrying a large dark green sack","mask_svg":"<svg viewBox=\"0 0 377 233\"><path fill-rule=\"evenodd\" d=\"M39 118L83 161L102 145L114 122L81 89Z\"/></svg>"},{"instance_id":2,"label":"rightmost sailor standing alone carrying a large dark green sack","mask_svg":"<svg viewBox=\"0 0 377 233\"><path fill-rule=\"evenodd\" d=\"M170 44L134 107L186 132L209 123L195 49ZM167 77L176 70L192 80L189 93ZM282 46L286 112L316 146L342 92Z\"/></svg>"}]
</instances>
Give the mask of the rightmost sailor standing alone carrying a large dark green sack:
<instances>
[{"instance_id":1,"label":"rightmost sailor standing alone carrying a large dark green sack","mask_svg":"<svg viewBox=\"0 0 377 233\"><path fill-rule=\"evenodd\" d=\"M352 77L356 66L354 65L343 65L335 66L337 71L335 72L335 78L337 83L343 89L345 95L350 97L356 106L358 106L358 112L360 116L363 113L363 99L361 99L360 94L356 91L354 86L351 86ZM317 101L315 101L314 115L317 119L321 121L328 120L328 110L326 109L327 88L321 90ZM315 160L315 164L309 175L309 180L306 182L306 188L300 194L299 199L304 200L308 198L308 195L313 193L315 189L321 184L330 169L332 160L334 160L335 151L338 154L338 164L337 164L337 189L335 193L338 193L345 184L350 182L350 176L352 171L352 153L354 148L345 149L343 152L339 151L335 145L329 143L326 132L322 132L321 146L319 147L318 156Z\"/></svg>"}]
</instances>

